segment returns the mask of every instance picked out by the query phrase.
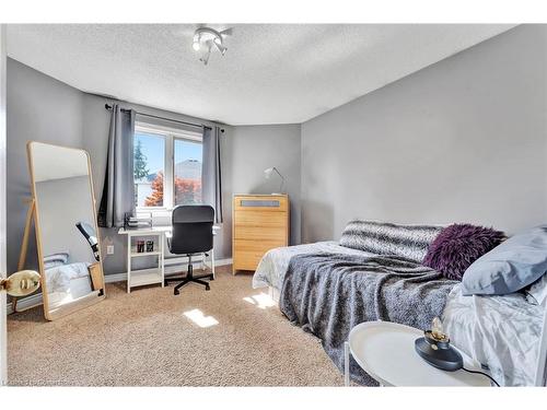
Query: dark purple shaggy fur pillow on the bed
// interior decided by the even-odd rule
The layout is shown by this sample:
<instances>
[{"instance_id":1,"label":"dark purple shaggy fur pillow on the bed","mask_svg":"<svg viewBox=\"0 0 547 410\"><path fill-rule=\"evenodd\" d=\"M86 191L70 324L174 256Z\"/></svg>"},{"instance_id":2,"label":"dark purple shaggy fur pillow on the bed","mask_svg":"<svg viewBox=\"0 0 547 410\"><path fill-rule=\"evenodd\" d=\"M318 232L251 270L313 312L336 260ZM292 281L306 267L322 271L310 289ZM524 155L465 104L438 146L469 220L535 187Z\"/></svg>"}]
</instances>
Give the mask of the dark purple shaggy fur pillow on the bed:
<instances>
[{"instance_id":1,"label":"dark purple shaggy fur pillow on the bed","mask_svg":"<svg viewBox=\"0 0 547 410\"><path fill-rule=\"evenodd\" d=\"M455 223L441 231L429 245L422 265L446 278L462 280L465 270L478 258L505 239L505 234L491 227Z\"/></svg>"}]
</instances>

